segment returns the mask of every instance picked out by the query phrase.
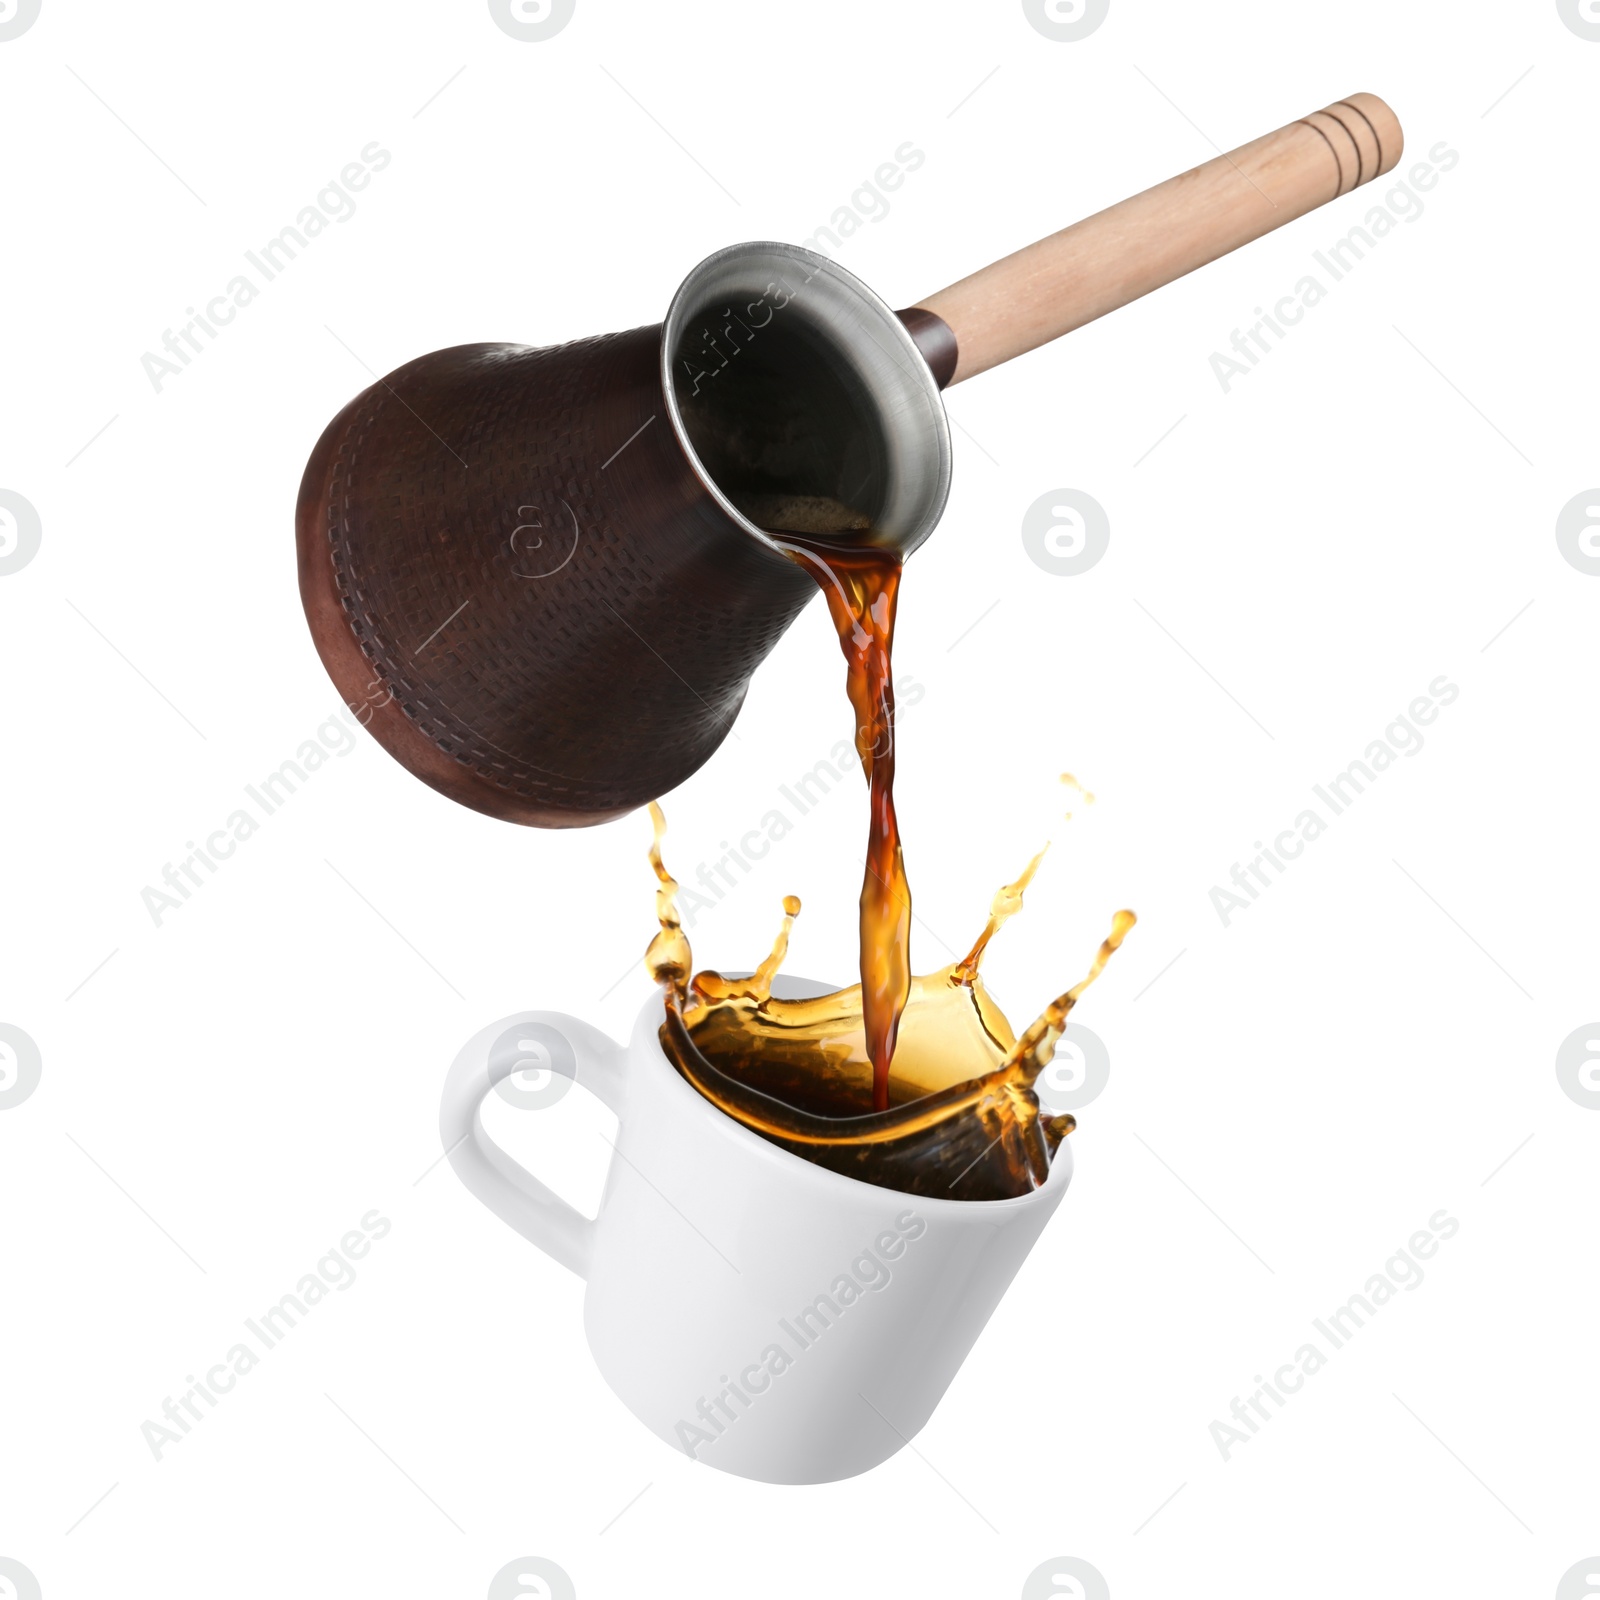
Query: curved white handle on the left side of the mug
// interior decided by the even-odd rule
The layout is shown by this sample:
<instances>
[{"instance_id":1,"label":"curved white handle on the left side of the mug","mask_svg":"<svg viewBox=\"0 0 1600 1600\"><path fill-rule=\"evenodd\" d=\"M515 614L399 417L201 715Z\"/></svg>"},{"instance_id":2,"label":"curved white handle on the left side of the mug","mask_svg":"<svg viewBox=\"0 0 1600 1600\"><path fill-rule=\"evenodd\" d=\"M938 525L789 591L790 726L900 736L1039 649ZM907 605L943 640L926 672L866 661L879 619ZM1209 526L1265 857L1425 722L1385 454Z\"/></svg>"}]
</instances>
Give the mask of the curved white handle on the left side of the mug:
<instances>
[{"instance_id":1,"label":"curved white handle on the left side of the mug","mask_svg":"<svg viewBox=\"0 0 1600 1600\"><path fill-rule=\"evenodd\" d=\"M510 1029L533 1026L555 1029L573 1046L574 1082L622 1115L627 1051L621 1045L560 1011L517 1011L477 1034L450 1064L438 1107L438 1136L456 1176L472 1194L523 1238L582 1278L589 1275L594 1221L518 1166L488 1136L480 1114L490 1090L528 1064L515 1050L494 1056L494 1040Z\"/></svg>"}]
</instances>

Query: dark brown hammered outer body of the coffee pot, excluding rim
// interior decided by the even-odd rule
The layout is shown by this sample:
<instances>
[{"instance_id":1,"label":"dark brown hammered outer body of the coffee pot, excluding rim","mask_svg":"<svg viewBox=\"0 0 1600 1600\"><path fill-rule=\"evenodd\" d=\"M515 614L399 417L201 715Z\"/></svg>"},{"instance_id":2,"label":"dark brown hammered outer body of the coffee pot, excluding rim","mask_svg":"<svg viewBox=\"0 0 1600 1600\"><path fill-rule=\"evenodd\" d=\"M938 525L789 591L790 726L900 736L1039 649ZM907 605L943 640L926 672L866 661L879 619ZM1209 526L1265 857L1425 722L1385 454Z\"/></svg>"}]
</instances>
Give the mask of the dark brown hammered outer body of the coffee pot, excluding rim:
<instances>
[{"instance_id":1,"label":"dark brown hammered outer body of the coffee pot, excluding rim","mask_svg":"<svg viewBox=\"0 0 1600 1600\"><path fill-rule=\"evenodd\" d=\"M299 541L312 635L370 730L453 798L539 826L701 766L814 594L690 469L659 328L402 366L323 434Z\"/></svg>"}]
</instances>

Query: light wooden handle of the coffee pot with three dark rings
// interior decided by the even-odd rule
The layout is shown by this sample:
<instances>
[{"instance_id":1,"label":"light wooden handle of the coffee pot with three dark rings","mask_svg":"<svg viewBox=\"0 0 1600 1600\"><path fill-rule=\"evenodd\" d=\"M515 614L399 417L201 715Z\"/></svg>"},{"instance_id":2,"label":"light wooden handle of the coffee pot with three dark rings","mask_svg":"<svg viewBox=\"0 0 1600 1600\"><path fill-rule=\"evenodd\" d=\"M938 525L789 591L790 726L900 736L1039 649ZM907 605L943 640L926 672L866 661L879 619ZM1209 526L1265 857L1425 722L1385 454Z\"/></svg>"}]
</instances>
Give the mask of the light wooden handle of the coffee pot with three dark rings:
<instances>
[{"instance_id":1,"label":"light wooden handle of the coffee pot with three dark rings","mask_svg":"<svg viewBox=\"0 0 1600 1600\"><path fill-rule=\"evenodd\" d=\"M1405 139L1352 94L918 301L955 334L950 382L1059 339L1387 173Z\"/></svg>"}]
</instances>

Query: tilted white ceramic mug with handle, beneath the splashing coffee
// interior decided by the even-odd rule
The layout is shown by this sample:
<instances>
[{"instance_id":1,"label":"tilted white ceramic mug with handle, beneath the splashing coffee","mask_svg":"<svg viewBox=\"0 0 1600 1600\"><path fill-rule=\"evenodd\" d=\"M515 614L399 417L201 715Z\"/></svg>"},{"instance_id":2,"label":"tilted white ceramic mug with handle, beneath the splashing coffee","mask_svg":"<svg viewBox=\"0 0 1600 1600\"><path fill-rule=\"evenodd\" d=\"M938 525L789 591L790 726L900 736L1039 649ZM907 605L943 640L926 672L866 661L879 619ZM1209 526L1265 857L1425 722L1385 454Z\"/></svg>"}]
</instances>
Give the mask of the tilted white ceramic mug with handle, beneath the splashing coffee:
<instances>
[{"instance_id":1,"label":"tilted white ceramic mug with handle, beneath the splashing coffee","mask_svg":"<svg viewBox=\"0 0 1600 1600\"><path fill-rule=\"evenodd\" d=\"M830 987L774 986L790 998ZM662 1014L656 995L627 1046L557 1011L474 1035L445 1080L450 1163L496 1216L589 1280L589 1349L651 1432L768 1483L866 1472L933 1414L1061 1203L1069 1146L1043 1187L1014 1200L938 1200L845 1178L704 1099L662 1053ZM571 1050L557 1070L621 1123L592 1219L483 1130L483 1098L528 1066L518 1029L555 1030Z\"/></svg>"}]
</instances>

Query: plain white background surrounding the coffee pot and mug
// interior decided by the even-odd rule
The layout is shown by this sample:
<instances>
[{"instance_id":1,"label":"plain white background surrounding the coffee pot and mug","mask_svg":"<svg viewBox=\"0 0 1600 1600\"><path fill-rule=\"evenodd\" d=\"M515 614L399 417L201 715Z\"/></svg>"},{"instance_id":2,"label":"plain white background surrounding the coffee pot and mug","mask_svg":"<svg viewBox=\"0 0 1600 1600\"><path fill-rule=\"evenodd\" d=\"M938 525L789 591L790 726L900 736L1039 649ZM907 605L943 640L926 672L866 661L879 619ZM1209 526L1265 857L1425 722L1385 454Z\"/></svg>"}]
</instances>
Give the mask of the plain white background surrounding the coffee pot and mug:
<instances>
[{"instance_id":1,"label":"plain white background surrounding the coffee pot and mug","mask_svg":"<svg viewBox=\"0 0 1600 1600\"><path fill-rule=\"evenodd\" d=\"M1600 1114L1554 1070L1600 1014L1600 579L1554 538L1600 478L1597 74L1542 0L1114 0L1080 43L1016 3L579 0L518 43L482 3L45 0L0 43L0 488L43 523L0 579L0 1021L43 1058L0 1112L0 1555L48 1600L477 1597L520 1555L584 1600L1013 1597L1056 1555L1117 1597L1554 1595L1600 1550ZM336 709L306 456L360 363L656 322L907 139L838 253L891 304L1355 90L1405 166L1459 165L1230 394L1211 352L1373 189L949 394L898 653L917 965L1054 835L992 979L1021 1026L1136 907L1082 1011L1110 1086L915 1453L698 1467L594 1371L581 1283L430 1168L467 1035L648 998L643 814L518 830L362 734L162 926L141 904ZM157 394L141 355L370 141L355 216ZM1019 534L1064 486L1112 526L1078 578ZM1426 749L1224 928L1211 886L1440 674ZM680 875L845 736L813 606L666 798ZM1062 770L1099 795L1070 824ZM792 970L848 978L864 818L859 786L808 816L699 960L752 965L794 891ZM595 1102L491 1112L592 1203ZM152 1459L163 1398L373 1208L358 1282ZM1427 1280L1224 1462L1210 1424L1440 1208Z\"/></svg>"}]
</instances>

